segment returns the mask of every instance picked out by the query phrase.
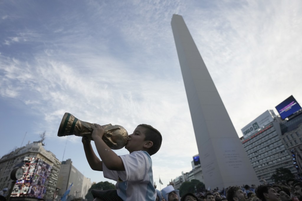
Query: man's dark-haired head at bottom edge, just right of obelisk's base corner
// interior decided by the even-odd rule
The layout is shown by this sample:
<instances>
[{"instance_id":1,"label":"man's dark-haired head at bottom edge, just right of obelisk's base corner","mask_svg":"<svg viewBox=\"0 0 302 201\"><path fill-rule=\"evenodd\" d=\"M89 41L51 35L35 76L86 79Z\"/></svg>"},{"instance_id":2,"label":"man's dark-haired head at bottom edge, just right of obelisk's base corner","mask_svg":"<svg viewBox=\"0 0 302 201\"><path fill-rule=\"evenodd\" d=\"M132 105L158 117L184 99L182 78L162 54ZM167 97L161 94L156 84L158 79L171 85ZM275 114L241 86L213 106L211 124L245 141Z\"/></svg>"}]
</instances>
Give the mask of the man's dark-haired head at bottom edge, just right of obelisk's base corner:
<instances>
[{"instance_id":1,"label":"man's dark-haired head at bottom edge, just right of obelisk's base corner","mask_svg":"<svg viewBox=\"0 0 302 201\"><path fill-rule=\"evenodd\" d=\"M280 195L270 185L260 185L256 189L256 195L262 201L281 201Z\"/></svg>"}]
</instances>

